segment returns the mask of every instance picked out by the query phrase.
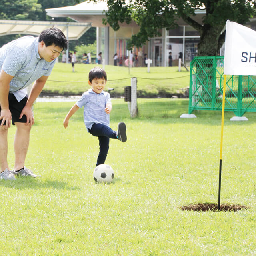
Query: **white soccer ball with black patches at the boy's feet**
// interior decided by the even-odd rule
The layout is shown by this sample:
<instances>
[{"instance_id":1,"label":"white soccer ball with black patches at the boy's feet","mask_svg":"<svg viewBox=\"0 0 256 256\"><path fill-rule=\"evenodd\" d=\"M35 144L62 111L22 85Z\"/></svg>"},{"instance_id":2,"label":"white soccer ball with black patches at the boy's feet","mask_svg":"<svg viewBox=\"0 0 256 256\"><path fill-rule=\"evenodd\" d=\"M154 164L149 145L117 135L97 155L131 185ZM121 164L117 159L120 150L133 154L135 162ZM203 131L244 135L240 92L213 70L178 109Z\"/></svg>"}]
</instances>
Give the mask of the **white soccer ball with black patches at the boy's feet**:
<instances>
[{"instance_id":1,"label":"white soccer ball with black patches at the boy's feet","mask_svg":"<svg viewBox=\"0 0 256 256\"><path fill-rule=\"evenodd\" d=\"M100 164L94 169L93 178L98 183L110 183L114 179L114 171L109 165Z\"/></svg>"}]
</instances>

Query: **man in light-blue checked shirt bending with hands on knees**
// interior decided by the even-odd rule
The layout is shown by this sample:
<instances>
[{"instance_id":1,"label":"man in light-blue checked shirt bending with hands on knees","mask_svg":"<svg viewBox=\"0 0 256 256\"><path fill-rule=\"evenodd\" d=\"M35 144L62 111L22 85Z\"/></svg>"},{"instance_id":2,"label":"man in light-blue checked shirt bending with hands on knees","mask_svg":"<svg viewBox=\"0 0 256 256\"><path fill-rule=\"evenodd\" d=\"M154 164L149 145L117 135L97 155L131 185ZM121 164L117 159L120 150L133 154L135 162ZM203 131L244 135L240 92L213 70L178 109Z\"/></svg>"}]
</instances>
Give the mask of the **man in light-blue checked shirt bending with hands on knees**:
<instances>
[{"instance_id":1,"label":"man in light-blue checked shirt bending with hands on knees","mask_svg":"<svg viewBox=\"0 0 256 256\"><path fill-rule=\"evenodd\" d=\"M34 124L32 104L42 91L56 58L67 46L62 31L49 28L37 38L24 36L0 48L0 179L15 180L15 175L37 176L24 166L30 129ZM24 88L33 82L28 96ZM7 134L11 121L17 128L13 171L7 162Z\"/></svg>"}]
</instances>

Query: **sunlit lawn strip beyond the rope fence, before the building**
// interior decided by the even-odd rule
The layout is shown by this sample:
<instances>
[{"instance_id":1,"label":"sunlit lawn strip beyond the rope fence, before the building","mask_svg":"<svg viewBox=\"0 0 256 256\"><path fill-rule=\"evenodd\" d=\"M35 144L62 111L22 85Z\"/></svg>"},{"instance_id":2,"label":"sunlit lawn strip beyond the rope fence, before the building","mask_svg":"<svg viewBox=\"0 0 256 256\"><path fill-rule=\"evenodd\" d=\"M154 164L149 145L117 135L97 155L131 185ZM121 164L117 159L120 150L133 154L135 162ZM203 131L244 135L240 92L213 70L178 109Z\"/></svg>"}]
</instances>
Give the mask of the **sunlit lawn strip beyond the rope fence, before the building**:
<instances>
[{"instance_id":1,"label":"sunlit lawn strip beyond the rope fence, before the building","mask_svg":"<svg viewBox=\"0 0 256 256\"><path fill-rule=\"evenodd\" d=\"M72 72L71 64L56 63L43 92L81 94L89 88L88 73L94 66L95 64L75 64L76 72ZM105 70L108 76L106 90L114 88L112 93L117 96L124 94L124 87L131 85L132 77L138 78L138 96L174 94L189 86L189 72L184 68L182 72L178 72L178 67L152 67L150 73L147 68L130 68L129 74L128 67L106 65Z\"/></svg>"}]
</instances>

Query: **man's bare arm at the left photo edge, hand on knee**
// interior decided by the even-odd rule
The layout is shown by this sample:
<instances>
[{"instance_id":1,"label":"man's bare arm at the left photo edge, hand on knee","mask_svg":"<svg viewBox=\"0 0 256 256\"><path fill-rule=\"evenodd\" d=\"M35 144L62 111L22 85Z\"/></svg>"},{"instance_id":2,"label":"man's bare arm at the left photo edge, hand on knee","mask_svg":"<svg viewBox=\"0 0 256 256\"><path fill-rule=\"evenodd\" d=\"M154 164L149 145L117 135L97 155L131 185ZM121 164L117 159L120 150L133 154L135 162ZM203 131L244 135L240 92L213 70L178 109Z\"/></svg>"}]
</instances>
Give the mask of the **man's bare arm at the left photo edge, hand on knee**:
<instances>
[{"instance_id":1,"label":"man's bare arm at the left photo edge, hand on knee","mask_svg":"<svg viewBox=\"0 0 256 256\"><path fill-rule=\"evenodd\" d=\"M4 122L6 122L6 125L5 125L6 129L11 126L11 121L12 121L12 114L9 110L9 102L8 102L10 82L12 78L13 76L10 76L9 74L1 70L0 72L0 106L1 106L0 126L2 127Z\"/></svg>"}]
</instances>

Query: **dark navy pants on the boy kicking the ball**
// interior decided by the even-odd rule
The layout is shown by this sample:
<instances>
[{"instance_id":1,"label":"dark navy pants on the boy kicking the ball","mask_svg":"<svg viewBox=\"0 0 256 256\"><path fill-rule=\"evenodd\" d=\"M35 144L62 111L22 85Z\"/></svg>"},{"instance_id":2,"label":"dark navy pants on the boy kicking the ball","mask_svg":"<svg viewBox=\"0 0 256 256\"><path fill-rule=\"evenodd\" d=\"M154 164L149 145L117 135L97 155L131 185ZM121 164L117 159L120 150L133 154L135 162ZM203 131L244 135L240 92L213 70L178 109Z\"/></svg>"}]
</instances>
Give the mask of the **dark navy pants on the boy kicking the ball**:
<instances>
[{"instance_id":1,"label":"dark navy pants on the boy kicking the ball","mask_svg":"<svg viewBox=\"0 0 256 256\"><path fill-rule=\"evenodd\" d=\"M99 139L100 152L98 154L96 166L104 164L108 154L109 139L117 139L116 132L104 124L93 124L92 128L88 130L90 134Z\"/></svg>"}]
</instances>

